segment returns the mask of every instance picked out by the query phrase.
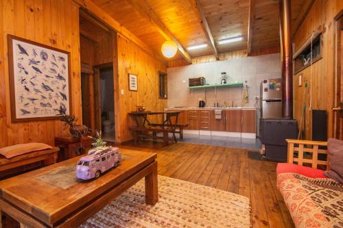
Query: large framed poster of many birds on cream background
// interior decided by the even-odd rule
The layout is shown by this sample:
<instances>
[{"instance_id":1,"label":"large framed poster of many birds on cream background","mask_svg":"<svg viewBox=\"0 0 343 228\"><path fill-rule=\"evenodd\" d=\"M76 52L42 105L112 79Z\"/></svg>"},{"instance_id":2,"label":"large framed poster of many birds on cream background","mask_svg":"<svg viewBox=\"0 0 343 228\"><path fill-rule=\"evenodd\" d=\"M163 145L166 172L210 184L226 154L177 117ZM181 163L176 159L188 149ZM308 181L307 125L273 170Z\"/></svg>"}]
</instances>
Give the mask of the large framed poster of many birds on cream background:
<instances>
[{"instance_id":1,"label":"large framed poster of many birds on cream background","mask_svg":"<svg viewBox=\"0 0 343 228\"><path fill-rule=\"evenodd\" d=\"M70 111L70 53L8 35L12 122L59 118Z\"/></svg>"}]
</instances>

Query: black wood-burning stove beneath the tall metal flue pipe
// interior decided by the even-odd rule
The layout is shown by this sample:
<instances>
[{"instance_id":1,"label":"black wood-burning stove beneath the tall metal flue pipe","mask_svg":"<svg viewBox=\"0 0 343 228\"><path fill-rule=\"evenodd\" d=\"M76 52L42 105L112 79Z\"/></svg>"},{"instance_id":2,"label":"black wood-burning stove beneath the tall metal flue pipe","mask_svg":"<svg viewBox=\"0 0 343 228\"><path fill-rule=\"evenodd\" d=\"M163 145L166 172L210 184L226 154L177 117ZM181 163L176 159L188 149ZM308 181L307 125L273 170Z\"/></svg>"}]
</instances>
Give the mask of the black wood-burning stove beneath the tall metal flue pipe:
<instances>
[{"instance_id":1,"label":"black wood-burning stove beneath the tall metal flue pipe","mask_svg":"<svg viewBox=\"0 0 343 228\"><path fill-rule=\"evenodd\" d=\"M287 161L286 139L296 139L298 123L287 119L260 119L260 140L265 145L265 157L276 162Z\"/></svg>"}]
</instances>

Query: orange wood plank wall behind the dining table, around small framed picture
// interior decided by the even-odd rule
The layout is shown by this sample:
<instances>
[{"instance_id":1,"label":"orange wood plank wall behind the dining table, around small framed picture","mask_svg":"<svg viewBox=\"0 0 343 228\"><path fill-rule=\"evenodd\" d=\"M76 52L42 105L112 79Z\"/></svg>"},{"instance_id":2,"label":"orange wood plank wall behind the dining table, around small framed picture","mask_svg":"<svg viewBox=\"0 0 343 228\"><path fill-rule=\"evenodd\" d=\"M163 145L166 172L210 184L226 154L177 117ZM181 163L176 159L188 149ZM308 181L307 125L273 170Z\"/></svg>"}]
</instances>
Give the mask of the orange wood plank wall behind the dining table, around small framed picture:
<instances>
[{"instance_id":1,"label":"orange wood plank wall behind the dining table, around small framed picture","mask_svg":"<svg viewBox=\"0 0 343 228\"><path fill-rule=\"evenodd\" d=\"M120 34L117 35L117 58L119 84L115 93L119 107L115 107L115 112L119 115L116 118L119 123L116 122L116 140L125 142L132 139L128 126L133 123L128 113L134 111L136 105L144 104L151 111L163 111L166 107L167 100L158 98L158 71L166 73L167 64L156 60ZM138 92L128 90L128 73L137 75ZM121 94L121 90L124 94ZM161 121L161 118L155 117L152 121Z\"/></svg>"}]
</instances>

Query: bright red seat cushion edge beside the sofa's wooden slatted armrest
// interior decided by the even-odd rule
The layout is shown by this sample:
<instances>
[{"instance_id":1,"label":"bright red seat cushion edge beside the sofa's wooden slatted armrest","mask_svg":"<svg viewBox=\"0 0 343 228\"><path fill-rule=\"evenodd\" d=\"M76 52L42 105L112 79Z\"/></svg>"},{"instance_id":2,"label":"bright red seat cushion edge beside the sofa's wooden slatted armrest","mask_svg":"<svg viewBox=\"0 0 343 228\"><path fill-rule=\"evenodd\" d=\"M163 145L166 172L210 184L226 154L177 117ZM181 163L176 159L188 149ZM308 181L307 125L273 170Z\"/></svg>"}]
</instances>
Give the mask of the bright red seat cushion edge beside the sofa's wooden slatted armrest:
<instances>
[{"instance_id":1,"label":"bright red seat cushion edge beside the sofa's wooden slatted armrest","mask_svg":"<svg viewBox=\"0 0 343 228\"><path fill-rule=\"evenodd\" d=\"M299 166L297 164L291 163L279 163L276 166L276 175L279 175L281 173L298 173L300 175L311 178L327 178L324 175L324 170L306 166Z\"/></svg>"}]
</instances>

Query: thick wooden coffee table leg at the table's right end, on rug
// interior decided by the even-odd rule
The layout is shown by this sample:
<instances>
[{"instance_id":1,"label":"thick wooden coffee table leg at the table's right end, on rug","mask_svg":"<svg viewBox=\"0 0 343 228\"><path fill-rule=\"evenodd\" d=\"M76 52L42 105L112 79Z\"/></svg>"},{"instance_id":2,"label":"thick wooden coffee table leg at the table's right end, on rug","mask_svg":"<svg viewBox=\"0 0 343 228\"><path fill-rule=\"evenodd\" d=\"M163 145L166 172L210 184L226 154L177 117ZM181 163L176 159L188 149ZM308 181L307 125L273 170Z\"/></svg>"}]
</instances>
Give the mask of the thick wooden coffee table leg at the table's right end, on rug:
<instances>
[{"instance_id":1,"label":"thick wooden coffee table leg at the table's right end, on rug","mask_svg":"<svg viewBox=\"0 0 343 228\"><path fill-rule=\"evenodd\" d=\"M155 205L158 202L157 162L152 165L152 172L145 176L145 203Z\"/></svg>"}]
</instances>

